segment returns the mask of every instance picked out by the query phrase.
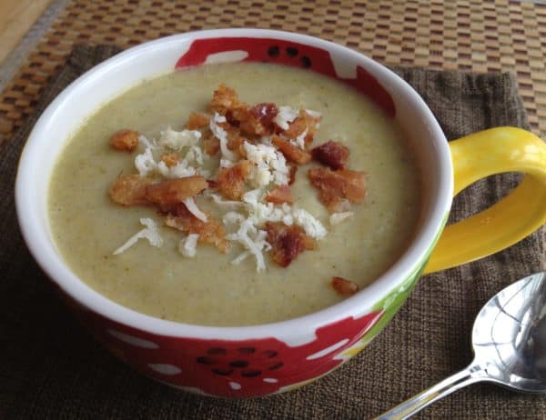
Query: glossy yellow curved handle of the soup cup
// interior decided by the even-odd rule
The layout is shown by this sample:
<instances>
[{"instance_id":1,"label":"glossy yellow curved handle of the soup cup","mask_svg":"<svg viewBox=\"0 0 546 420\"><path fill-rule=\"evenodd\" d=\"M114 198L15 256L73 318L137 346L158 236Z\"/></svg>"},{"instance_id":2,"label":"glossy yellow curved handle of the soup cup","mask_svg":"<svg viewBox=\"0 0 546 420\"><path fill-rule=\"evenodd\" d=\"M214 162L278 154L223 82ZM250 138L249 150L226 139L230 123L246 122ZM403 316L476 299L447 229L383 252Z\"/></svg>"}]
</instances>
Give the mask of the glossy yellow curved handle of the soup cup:
<instances>
[{"instance_id":1,"label":"glossy yellow curved handle of the soup cup","mask_svg":"<svg viewBox=\"0 0 546 420\"><path fill-rule=\"evenodd\" d=\"M499 252L546 222L546 145L539 137L520 128L491 128L450 142L450 149L454 195L489 175L525 176L497 204L447 226L425 273Z\"/></svg>"}]
</instances>

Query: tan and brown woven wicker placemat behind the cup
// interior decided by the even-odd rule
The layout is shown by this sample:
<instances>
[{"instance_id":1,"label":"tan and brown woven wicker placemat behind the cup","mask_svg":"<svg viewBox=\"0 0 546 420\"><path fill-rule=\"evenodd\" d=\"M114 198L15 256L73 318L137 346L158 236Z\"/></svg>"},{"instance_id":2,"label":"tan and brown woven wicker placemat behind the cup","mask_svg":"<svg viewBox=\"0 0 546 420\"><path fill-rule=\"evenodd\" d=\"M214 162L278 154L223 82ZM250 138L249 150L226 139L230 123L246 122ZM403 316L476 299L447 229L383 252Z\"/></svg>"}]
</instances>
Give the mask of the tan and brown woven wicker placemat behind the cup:
<instances>
[{"instance_id":1,"label":"tan and brown woven wicker placemat behind the cup","mask_svg":"<svg viewBox=\"0 0 546 420\"><path fill-rule=\"evenodd\" d=\"M74 0L0 95L0 143L35 108L76 42L136 45L219 27L329 39L389 65L518 75L531 129L546 135L546 5L498 1Z\"/></svg>"}]
</instances>

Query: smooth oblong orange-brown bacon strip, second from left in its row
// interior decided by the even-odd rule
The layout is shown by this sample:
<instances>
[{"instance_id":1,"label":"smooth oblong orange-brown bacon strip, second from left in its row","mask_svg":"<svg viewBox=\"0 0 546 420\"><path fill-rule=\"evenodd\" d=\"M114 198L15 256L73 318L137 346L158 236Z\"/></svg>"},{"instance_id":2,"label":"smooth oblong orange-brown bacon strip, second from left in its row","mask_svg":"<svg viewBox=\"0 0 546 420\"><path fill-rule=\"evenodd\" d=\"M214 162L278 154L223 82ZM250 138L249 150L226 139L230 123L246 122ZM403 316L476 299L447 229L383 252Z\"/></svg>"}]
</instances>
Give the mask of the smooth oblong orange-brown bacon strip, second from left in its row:
<instances>
[{"instance_id":1,"label":"smooth oblong orange-brown bacon strip, second from left in its row","mask_svg":"<svg viewBox=\"0 0 546 420\"><path fill-rule=\"evenodd\" d=\"M146 198L157 205L174 205L199 194L207 187L207 180L203 176L167 179L158 184L147 185Z\"/></svg>"}]
</instances>

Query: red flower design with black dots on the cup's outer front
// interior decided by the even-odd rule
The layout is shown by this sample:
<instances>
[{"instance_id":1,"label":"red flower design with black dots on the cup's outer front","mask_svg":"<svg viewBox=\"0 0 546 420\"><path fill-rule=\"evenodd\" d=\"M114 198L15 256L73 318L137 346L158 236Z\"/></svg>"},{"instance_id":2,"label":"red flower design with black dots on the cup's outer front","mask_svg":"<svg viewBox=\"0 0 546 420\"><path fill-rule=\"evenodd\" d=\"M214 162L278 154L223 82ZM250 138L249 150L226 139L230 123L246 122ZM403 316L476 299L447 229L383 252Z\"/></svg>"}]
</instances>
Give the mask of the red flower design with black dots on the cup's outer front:
<instances>
[{"instance_id":1,"label":"red flower design with black dots on the cup's outer front","mask_svg":"<svg viewBox=\"0 0 546 420\"><path fill-rule=\"evenodd\" d=\"M146 375L210 395L257 396L319 377L365 335L381 311L322 326L316 339L289 346L277 338L224 341L150 335L102 316L80 312L96 337Z\"/></svg>"}]
</instances>

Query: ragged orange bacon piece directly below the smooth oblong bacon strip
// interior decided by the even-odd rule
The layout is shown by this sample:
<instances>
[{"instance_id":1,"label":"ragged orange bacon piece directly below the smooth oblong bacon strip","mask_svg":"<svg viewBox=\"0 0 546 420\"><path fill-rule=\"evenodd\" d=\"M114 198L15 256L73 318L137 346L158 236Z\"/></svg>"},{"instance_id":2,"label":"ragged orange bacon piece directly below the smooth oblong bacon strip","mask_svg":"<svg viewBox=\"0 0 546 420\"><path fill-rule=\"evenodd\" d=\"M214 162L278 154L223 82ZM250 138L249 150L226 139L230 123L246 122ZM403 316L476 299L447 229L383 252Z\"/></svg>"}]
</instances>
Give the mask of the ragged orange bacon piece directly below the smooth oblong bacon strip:
<instances>
[{"instance_id":1,"label":"ragged orange bacon piece directly below the smooth oblong bacon strip","mask_svg":"<svg viewBox=\"0 0 546 420\"><path fill-rule=\"evenodd\" d=\"M185 232L188 235L199 235L199 242L214 245L224 254L229 251L230 243L226 239L226 232L221 223L207 214L207 222L197 219L187 210L186 205L178 203L170 209L165 218L165 224L169 227Z\"/></svg>"}]
</instances>

